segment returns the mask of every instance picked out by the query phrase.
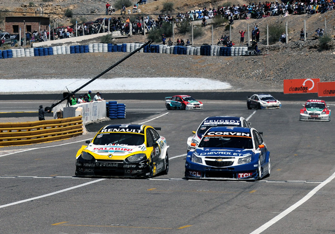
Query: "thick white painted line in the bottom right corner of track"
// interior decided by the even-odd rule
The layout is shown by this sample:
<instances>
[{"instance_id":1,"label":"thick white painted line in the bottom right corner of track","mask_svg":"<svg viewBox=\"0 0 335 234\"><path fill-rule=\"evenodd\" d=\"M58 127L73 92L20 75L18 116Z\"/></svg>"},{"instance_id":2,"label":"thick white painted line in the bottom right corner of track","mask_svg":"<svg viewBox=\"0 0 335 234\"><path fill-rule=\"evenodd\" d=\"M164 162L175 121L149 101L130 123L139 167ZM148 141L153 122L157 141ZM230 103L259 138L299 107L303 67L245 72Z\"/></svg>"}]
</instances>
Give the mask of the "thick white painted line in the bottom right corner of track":
<instances>
[{"instance_id":1,"label":"thick white painted line in the bottom right corner of track","mask_svg":"<svg viewBox=\"0 0 335 234\"><path fill-rule=\"evenodd\" d=\"M335 172L330 177L328 177L324 182L322 182L321 184L319 184L318 186L316 186L306 196L304 196L303 198L301 198L298 202L294 203L292 206L290 206L289 208L287 208L285 211L283 211L282 213L280 213L279 215L277 215L275 218L271 219L269 222L264 223L262 226L258 227L256 230L254 230L250 234L261 233L262 231L266 230L267 228L269 228L273 224L277 223L279 220L281 220L282 218L284 218L286 215L288 215L289 213L291 213L292 211L294 211L296 208L298 208L299 206L301 206L303 203L305 203L306 201L308 201L315 193L317 193L320 189L322 189L326 184L328 184L329 182L331 182L334 178L335 178Z\"/></svg>"}]
</instances>

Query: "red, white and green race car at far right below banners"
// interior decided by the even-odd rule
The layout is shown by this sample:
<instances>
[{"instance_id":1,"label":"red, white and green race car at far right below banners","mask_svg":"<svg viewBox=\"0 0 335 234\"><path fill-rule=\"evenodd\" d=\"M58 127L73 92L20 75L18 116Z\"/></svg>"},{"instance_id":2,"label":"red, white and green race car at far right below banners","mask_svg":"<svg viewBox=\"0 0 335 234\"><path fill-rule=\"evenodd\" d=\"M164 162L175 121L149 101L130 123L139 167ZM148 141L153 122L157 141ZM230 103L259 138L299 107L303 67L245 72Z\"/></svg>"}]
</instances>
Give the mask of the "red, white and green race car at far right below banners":
<instances>
[{"instance_id":1,"label":"red, white and green race car at far right below banners","mask_svg":"<svg viewBox=\"0 0 335 234\"><path fill-rule=\"evenodd\" d=\"M307 100L300 109L300 121L330 121L330 110L323 100Z\"/></svg>"}]
</instances>

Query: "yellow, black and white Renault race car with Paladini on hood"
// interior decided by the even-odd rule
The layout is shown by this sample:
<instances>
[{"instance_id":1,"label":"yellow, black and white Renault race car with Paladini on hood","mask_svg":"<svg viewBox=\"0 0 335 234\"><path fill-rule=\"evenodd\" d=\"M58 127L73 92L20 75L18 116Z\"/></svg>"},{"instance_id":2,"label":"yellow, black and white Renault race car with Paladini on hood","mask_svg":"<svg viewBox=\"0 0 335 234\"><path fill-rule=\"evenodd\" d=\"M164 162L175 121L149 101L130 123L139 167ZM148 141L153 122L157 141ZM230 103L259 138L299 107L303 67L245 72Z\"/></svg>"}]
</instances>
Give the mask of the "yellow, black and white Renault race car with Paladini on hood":
<instances>
[{"instance_id":1,"label":"yellow, black and white Renault race car with Paladini on hood","mask_svg":"<svg viewBox=\"0 0 335 234\"><path fill-rule=\"evenodd\" d=\"M76 155L76 176L148 177L169 171L166 139L147 125L107 125Z\"/></svg>"}]
</instances>

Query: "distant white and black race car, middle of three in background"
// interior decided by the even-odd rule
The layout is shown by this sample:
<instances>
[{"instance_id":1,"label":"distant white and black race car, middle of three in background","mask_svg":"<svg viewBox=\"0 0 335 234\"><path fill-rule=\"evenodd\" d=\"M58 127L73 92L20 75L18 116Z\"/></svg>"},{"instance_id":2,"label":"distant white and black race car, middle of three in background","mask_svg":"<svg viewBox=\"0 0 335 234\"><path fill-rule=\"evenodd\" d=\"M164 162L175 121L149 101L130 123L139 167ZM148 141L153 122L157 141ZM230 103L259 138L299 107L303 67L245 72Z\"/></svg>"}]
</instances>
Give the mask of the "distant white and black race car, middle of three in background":
<instances>
[{"instance_id":1,"label":"distant white and black race car, middle of three in background","mask_svg":"<svg viewBox=\"0 0 335 234\"><path fill-rule=\"evenodd\" d=\"M282 104L270 94L254 94L247 98L247 107L249 110L252 108L279 109L282 107Z\"/></svg>"}]
</instances>

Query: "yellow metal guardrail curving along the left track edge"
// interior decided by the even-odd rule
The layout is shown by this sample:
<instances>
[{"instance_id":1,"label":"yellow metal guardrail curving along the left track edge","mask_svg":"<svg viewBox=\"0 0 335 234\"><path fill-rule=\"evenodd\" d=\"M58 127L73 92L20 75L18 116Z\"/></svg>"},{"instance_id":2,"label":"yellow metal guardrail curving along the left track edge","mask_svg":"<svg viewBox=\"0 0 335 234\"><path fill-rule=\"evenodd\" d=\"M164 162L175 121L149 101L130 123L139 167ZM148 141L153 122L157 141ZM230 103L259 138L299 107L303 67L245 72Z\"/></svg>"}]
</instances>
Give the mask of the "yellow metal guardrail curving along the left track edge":
<instances>
[{"instance_id":1,"label":"yellow metal guardrail curving along the left track edge","mask_svg":"<svg viewBox=\"0 0 335 234\"><path fill-rule=\"evenodd\" d=\"M0 123L0 147L69 139L83 134L82 116L24 123Z\"/></svg>"}]
</instances>

